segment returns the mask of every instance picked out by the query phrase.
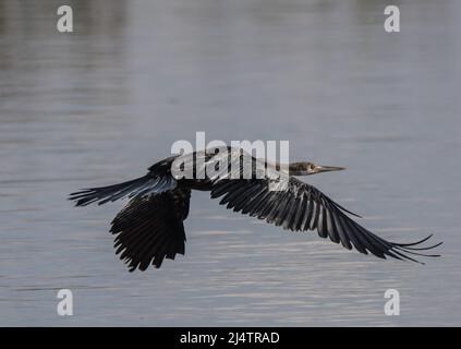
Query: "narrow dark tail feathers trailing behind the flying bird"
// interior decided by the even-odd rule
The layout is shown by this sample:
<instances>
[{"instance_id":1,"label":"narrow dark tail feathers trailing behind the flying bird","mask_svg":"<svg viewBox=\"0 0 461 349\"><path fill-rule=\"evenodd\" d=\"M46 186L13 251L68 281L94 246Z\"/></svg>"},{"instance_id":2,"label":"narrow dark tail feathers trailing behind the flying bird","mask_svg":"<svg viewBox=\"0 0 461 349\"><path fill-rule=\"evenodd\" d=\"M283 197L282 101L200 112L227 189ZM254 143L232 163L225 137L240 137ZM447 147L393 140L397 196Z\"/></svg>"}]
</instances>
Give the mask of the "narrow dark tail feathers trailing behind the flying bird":
<instances>
[{"instance_id":1,"label":"narrow dark tail feathers trailing behind the flying bird","mask_svg":"<svg viewBox=\"0 0 461 349\"><path fill-rule=\"evenodd\" d=\"M75 201L75 206L86 206L93 203L106 204L125 196L132 197L148 191L153 178L148 174L119 184L88 188L69 195L69 200Z\"/></svg>"}]
</instances>

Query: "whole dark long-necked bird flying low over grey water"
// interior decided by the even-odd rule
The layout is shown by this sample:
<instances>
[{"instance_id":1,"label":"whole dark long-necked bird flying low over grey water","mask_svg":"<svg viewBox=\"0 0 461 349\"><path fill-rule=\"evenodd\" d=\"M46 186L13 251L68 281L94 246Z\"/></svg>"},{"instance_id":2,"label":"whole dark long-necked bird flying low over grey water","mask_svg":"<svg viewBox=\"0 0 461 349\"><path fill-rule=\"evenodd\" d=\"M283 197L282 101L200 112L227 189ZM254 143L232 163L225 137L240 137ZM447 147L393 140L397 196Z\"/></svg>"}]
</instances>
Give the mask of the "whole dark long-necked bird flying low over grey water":
<instances>
[{"instance_id":1,"label":"whole dark long-necked bird flying low over grey water","mask_svg":"<svg viewBox=\"0 0 461 349\"><path fill-rule=\"evenodd\" d=\"M159 268L165 258L184 254L184 220L192 190L209 191L211 198L221 197L219 203L227 208L283 229L316 230L319 237L348 250L416 263L422 263L417 256L439 256L422 252L441 244L421 246L432 234L411 243L387 241L350 217L361 218L359 215L296 178L343 169L307 161L269 163L242 148L223 147L174 155L150 166L141 178L84 189L69 198L76 206L130 198L110 228L116 234L116 253L130 272L145 270L149 265Z\"/></svg>"}]
</instances>

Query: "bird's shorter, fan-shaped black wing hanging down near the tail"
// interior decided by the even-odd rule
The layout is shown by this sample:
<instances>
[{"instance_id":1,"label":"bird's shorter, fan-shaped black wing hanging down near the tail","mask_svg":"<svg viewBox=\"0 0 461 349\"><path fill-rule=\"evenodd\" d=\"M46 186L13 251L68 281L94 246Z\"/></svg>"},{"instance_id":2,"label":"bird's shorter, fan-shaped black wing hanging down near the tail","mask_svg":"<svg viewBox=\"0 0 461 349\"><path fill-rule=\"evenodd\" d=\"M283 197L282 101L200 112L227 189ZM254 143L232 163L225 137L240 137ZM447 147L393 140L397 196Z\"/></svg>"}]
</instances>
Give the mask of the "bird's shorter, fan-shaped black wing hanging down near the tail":
<instances>
[{"instance_id":1,"label":"bird's shorter, fan-shaped black wing hanging down near the tail","mask_svg":"<svg viewBox=\"0 0 461 349\"><path fill-rule=\"evenodd\" d=\"M130 272L145 270L150 263L159 268L163 258L184 254L183 220L187 218L191 190L178 188L146 197L135 197L112 220L118 234L117 254Z\"/></svg>"}]
</instances>

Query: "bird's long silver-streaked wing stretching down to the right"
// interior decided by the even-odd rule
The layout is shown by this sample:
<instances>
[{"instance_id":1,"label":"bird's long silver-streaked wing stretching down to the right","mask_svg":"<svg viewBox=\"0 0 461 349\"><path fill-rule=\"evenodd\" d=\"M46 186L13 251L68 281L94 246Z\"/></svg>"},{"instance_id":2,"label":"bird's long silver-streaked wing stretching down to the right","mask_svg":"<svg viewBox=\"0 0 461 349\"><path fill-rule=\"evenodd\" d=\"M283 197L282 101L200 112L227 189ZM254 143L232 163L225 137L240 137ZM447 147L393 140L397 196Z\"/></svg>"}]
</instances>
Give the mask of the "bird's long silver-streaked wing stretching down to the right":
<instances>
[{"instance_id":1,"label":"bird's long silver-streaked wing stretching down to the right","mask_svg":"<svg viewBox=\"0 0 461 349\"><path fill-rule=\"evenodd\" d=\"M286 181L283 190L274 190L283 181ZM417 246L430 236L413 243L386 241L349 218L345 208L319 190L294 177L282 176L278 180L217 180L211 189L211 197L220 196L222 196L220 204L227 205L227 208L232 208L234 212L265 219L292 231L317 230L322 238L329 238L336 243L341 242L348 250L354 246L361 253L369 252L380 258L389 256L418 262L415 255L438 256L420 251L433 249L441 243Z\"/></svg>"}]
</instances>

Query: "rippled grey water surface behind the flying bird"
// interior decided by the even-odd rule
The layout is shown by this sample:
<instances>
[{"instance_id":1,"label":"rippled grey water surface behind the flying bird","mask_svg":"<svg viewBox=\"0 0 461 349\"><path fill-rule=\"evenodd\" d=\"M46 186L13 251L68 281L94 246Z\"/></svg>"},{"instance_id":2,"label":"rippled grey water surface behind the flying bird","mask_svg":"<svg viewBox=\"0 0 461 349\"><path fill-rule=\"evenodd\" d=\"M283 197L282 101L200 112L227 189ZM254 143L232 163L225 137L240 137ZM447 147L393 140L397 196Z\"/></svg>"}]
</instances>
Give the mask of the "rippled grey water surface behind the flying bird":
<instances>
[{"instance_id":1,"label":"rippled grey water surface behind the flying bird","mask_svg":"<svg viewBox=\"0 0 461 349\"><path fill-rule=\"evenodd\" d=\"M461 2L391 3L401 33L387 1L66 1L61 34L61 1L0 0L0 325L460 325ZM193 193L185 256L130 274L108 232L124 203L66 195L196 131L348 167L304 180L384 238L435 233L442 257L376 260Z\"/></svg>"}]
</instances>

